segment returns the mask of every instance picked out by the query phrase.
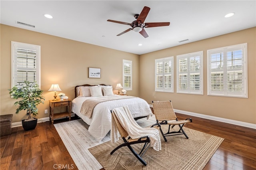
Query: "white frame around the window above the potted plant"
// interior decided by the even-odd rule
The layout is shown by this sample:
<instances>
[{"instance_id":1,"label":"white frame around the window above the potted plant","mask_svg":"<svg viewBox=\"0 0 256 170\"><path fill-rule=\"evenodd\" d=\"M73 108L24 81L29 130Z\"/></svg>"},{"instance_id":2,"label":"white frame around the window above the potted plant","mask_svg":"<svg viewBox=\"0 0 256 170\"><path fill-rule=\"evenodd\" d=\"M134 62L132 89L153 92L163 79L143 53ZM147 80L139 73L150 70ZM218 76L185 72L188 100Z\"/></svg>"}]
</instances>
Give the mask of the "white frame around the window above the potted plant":
<instances>
[{"instance_id":1,"label":"white frame around the window above the potted plant","mask_svg":"<svg viewBox=\"0 0 256 170\"><path fill-rule=\"evenodd\" d=\"M33 45L28 43L20 43L11 41L11 69L12 69L12 79L11 79L11 88L17 85L17 48L26 49L26 50L34 50L36 51L36 84L38 84L39 88L41 88L41 46ZM26 69L20 69L26 70ZM28 80L27 78L24 80ZM31 81L32 82L32 81Z\"/></svg>"}]
</instances>

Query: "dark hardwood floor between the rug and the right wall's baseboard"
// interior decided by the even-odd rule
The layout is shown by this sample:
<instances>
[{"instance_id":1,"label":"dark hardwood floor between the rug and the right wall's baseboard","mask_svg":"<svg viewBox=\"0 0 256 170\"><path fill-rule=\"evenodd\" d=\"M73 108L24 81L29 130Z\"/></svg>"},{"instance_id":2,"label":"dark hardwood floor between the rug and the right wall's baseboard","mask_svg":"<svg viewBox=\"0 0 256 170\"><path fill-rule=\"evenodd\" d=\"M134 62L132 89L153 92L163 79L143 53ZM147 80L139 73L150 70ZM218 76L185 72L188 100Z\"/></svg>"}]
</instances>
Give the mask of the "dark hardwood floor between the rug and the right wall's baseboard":
<instances>
[{"instance_id":1,"label":"dark hardwood floor between the rug and the right wall's baseboard","mask_svg":"<svg viewBox=\"0 0 256 170\"><path fill-rule=\"evenodd\" d=\"M204 170L256 170L256 129L176 114L192 118L185 126L224 138Z\"/></svg>"}]
</instances>

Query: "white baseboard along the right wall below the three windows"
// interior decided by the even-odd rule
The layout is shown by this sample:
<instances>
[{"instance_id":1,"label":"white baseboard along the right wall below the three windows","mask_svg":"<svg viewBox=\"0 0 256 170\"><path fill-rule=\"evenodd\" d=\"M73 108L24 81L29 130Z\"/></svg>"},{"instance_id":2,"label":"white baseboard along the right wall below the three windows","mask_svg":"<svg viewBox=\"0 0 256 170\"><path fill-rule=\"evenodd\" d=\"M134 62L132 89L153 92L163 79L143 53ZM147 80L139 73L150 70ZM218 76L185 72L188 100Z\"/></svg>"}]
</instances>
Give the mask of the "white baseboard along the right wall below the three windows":
<instances>
[{"instance_id":1,"label":"white baseboard along the right wall below the three windows","mask_svg":"<svg viewBox=\"0 0 256 170\"><path fill-rule=\"evenodd\" d=\"M150 105L150 107L153 107L153 106ZM224 123L229 123L229 124L238 125L238 126L242 126L242 127L248 127L248 128L256 129L256 124L253 124L253 123L235 121L235 120L231 120L231 119L225 119L225 118L221 118L221 117L203 115L203 114L199 114L199 113L182 111L182 110L178 110L178 109L174 109L174 111L176 113L181 113L181 114L184 114L184 115L190 115L190 116L194 116L194 117L200 117L200 118L204 118L204 119L210 119L210 120L213 120L213 121L224 122Z\"/></svg>"}]
</instances>

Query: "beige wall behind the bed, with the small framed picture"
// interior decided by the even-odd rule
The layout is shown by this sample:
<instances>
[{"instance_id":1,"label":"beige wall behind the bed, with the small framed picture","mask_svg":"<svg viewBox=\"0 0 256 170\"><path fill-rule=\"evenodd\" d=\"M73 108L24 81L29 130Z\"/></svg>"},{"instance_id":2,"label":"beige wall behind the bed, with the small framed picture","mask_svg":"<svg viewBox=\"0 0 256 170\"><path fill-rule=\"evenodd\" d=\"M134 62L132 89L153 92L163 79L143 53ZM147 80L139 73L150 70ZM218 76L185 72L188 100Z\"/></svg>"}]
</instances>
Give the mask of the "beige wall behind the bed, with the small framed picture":
<instances>
[{"instance_id":1,"label":"beige wall behind the bed, with the small framed picture","mask_svg":"<svg viewBox=\"0 0 256 170\"><path fill-rule=\"evenodd\" d=\"M139 55L2 24L0 31L0 114L13 113L13 122L26 119L26 114L15 114L15 100L9 96L11 41L41 45L41 89L46 100L44 105L38 106L38 118L48 117L48 114L44 114L44 109L49 109L48 101L53 99L54 92L48 91L51 84L58 83L62 93L70 99L74 99L76 85L105 83L115 88L116 83L122 83L122 59L132 60L133 64L133 90L127 93L138 96L139 75L136 73L139 71ZM102 78L88 78L88 67L101 68ZM114 93L117 93L116 89Z\"/></svg>"}]
</instances>

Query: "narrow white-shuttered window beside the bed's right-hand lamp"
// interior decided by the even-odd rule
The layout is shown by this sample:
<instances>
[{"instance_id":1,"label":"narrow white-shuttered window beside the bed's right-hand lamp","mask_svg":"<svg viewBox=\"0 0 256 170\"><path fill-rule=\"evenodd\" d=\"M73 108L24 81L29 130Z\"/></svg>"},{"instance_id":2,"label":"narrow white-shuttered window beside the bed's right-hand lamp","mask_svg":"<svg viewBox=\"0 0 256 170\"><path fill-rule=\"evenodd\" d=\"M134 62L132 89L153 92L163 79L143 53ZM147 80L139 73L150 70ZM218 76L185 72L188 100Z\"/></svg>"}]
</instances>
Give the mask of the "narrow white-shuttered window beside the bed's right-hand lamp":
<instances>
[{"instance_id":1,"label":"narrow white-shuttered window beside the bed's right-hand lamp","mask_svg":"<svg viewBox=\"0 0 256 170\"><path fill-rule=\"evenodd\" d=\"M132 90L132 61L123 59L123 89Z\"/></svg>"}]
</instances>

